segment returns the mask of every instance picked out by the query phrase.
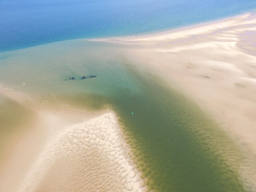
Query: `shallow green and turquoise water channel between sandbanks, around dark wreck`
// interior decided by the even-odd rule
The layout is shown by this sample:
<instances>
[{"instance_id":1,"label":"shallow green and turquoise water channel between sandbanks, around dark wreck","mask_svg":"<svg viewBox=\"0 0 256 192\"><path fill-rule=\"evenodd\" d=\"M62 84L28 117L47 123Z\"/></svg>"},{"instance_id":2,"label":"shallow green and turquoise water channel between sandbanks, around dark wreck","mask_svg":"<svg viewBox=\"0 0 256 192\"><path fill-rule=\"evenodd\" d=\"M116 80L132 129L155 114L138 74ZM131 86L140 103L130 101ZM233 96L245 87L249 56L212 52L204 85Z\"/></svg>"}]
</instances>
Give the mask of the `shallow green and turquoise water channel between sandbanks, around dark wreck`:
<instances>
[{"instance_id":1,"label":"shallow green and turquoise water channel between sandbanks, around dark wreck","mask_svg":"<svg viewBox=\"0 0 256 192\"><path fill-rule=\"evenodd\" d=\"M8 54L0 55L0 82L40 102L114 110L150 189L246 191L238 174L242 156L216 124L159 78L133 69L113 45L76 40ZM64 81L70 74L97 77Z\"/></svg>"}]
</instances>

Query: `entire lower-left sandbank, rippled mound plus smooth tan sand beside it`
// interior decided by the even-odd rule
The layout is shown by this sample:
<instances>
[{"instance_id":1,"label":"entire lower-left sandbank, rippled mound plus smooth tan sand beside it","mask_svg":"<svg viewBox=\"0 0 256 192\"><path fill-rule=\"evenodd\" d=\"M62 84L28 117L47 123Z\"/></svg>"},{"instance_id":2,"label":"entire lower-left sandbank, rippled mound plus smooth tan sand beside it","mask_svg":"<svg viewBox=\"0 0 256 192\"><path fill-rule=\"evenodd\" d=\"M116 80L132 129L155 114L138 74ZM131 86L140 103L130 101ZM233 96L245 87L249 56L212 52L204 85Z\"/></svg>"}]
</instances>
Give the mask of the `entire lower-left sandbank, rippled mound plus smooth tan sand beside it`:
<instances>
[{"instance_id":1,"label":"entire lower-left sandbank, rippled mound plus smooth tan sand beside it","mask_svg":"<svg viewBox=\"0 0 256 192\"><path fill-rule=\"evenodd\" d=\"M29 98L1 90L28 105ZM33 106L30 102L29 106ZM0 191L144 192L112 112L90 115L34 108L33 123L12 139L0 163Z\"/></svg>"}]
</instances>

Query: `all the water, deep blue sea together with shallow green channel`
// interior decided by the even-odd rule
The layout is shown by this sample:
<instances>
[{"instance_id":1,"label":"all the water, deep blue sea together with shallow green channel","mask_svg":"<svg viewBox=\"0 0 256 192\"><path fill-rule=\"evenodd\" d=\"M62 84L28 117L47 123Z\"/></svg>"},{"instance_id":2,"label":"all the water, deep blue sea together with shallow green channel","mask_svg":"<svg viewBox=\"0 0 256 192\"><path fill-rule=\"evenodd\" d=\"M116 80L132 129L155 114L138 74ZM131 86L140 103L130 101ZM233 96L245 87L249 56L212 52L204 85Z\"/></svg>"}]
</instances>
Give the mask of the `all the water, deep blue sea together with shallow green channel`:
<instances>
[{"instance_id":1,"label":"all the water, deep blue sea together with shallow green channel","mask_svg":"<svg viewBox=\"0 0 256 192\"><path fill-rule=\"evenodd\" d=\"M44 106L114 111L152 191L243 192L243 157L210 117L137 70L121 45L81 38L156 32L253 8L254 0L2 0L0 83ZM79 79L84 75L96 78Z\"/></svg>"}]
</instances>

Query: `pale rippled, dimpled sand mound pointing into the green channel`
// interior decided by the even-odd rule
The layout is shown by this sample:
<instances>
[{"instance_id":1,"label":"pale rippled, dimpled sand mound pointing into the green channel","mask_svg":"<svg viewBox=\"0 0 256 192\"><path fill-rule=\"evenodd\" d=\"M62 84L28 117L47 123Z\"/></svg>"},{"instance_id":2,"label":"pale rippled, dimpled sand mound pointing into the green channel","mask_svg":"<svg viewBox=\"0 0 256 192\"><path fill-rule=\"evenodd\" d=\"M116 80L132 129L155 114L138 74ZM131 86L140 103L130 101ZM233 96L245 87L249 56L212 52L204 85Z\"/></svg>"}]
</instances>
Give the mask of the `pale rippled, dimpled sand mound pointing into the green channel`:
<instances>
[{"instance_id":1,"label":"pale rippled, dimpled sand mound pointing into the green channel","mask_svg":"<svg viewBox=\"0 0 256 192\"><path fill-rule=\"evenodd\" d=\"M45 150L20 191L143 192L126 147L113 113L74 125Z\"/></svg>"}]
</instances>

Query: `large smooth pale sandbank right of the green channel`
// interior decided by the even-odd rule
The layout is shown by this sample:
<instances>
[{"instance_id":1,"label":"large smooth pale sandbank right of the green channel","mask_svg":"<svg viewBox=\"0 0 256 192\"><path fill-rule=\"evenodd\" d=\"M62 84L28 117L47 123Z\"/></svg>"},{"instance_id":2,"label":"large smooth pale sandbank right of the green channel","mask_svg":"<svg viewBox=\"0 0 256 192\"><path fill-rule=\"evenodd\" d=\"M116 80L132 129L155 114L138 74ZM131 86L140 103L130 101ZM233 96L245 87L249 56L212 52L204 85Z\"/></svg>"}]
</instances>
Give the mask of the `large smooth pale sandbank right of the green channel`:
<instances>
[{"instance_id":1,"label":"large smooth pale sandbank right of the green channel","mask_svg":"<svg viewBox=\"0 0 256 192\"><path fill-rule=\"evenodd\" d=\"M128 45L140 70L160 76L211 114L256 160L256 16L158 34L100 39Z\"/></svg>"}]
</instances>

